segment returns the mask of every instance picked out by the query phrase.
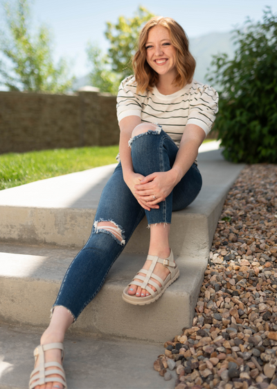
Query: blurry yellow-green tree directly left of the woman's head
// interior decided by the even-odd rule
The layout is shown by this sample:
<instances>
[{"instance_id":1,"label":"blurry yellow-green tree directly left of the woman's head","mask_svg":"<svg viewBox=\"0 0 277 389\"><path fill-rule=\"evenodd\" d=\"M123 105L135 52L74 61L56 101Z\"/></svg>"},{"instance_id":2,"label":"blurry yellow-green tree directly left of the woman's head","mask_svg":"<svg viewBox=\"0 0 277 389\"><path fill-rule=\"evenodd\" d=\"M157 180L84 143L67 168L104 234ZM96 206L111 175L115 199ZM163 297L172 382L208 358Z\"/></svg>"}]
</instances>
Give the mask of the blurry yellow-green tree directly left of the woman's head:
<instances>
[{"instance_id":1,"label":"blurry yellow-green tree directly left of the woman's head","mask_svg":"<svg viewBox=\"0 0 277 389\"><path fill-rule=\"evenodd\" d=\"M107 55L96 45L88 44L88 58L92 65L91 82L102 92L117 93L120 81L132 74L131 58L136 51L136 43L143 24L154 15L146 8L139 7L134 17L120 16L116 24L107 22L105 36L110 42Z\"/></svg>"}]
</instances>

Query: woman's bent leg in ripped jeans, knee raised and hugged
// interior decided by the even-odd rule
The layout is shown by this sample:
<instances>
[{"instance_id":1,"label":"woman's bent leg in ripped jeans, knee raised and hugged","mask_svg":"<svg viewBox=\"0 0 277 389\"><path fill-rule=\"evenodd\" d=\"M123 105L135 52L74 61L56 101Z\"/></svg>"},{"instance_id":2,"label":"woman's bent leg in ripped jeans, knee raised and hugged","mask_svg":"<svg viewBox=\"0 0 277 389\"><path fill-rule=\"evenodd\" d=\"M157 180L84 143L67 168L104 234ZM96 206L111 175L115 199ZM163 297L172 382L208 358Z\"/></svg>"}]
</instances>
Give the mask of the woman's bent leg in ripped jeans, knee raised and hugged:
<instances>
[{"instance_id":1,"label":"woman's bent leg in ripped jeans, knee raised and hugged","mask_svg":"<svg viewBox=\"0 0 277 389\"><path fill-rule=\"evenodd\" d=\"M132 133L132 160L134 172L148 176L153 172L167 172L175 162L178 148L172 139L153 124L140 124ZM148 254L168 258L170 255L169 233L172 210L186 208L201 189L202 179L195 165L191 167L172 193L159 204L159 209L145 210L150 226L150 249ZM143 269L148 270L151 261L146 260ZM167 267L157 263L154 274L166 279L169 274ZM141 274L140 275L144 275ZM139 280L136 280L139 281ZM156 281L153 279L153 281ZM157 281L156 281L157 282ZM158 282L159 284L159 282ZM150 288L155 290L151 285ZM161 285L160 285L161 286ZM129 295L145 297L149 292L136 285L130 285Z\"/></svg>"}]
</instances>

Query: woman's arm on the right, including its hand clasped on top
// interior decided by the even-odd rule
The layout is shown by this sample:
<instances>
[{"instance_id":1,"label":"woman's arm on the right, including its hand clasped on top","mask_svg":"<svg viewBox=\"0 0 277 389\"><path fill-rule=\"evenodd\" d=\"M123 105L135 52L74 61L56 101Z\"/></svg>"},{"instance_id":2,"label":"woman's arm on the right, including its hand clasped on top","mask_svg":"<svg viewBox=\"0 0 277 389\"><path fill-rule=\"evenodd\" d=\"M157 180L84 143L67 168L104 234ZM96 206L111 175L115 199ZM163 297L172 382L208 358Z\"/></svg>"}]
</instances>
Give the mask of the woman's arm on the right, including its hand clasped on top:
<instances>
[{"instance_id":1,"label":"woman's arm on the right, including its hand clasped on top","mask_svg":"<svg viewBox=\"0 0 277 389\"><path fill-rule=\"evenodd\" d=\"M150 174L139 185L135 186L135 195L139 195L139 199L143 204L148 201L148 206L153 206L168 197L175 185L181 181L188 169L193 165L199 146L202 144L205 136L204 130L196 124L186 125L172 169L168 172ZM152 195L156 197L156 200L152 201Z\"/></svg>"}]
</instances>

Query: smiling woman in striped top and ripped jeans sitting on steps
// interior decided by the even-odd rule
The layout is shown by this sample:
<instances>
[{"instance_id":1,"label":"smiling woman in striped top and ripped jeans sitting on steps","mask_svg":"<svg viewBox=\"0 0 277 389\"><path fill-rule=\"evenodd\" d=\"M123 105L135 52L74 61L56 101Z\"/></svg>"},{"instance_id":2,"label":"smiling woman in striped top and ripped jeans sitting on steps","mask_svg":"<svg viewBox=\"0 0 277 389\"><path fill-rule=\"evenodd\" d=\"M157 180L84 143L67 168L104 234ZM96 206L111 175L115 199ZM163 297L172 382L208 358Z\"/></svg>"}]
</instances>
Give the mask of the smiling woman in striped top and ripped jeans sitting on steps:
<instances>
[{"instance_id":1,"label":"smiling woman in striped top and ripped jeans sitting on steps","mask_svg":"<svg viewBox=\"0 0 277 389\"><path fill-rule=\"evenodd\" d=\"M64 276L44 346L35 349L31 389L66 387L64 333L97 295L145 214L149 255L123 299L150 304L179 276L169 246L171 213L186 208L201 189L195 160L215 119L218 95L193 80L195 60L173 19L154 17L143 27L133 66L134 76L118 90L120 163L102 192L91 236Z\"/></svg>"}]
</instances>

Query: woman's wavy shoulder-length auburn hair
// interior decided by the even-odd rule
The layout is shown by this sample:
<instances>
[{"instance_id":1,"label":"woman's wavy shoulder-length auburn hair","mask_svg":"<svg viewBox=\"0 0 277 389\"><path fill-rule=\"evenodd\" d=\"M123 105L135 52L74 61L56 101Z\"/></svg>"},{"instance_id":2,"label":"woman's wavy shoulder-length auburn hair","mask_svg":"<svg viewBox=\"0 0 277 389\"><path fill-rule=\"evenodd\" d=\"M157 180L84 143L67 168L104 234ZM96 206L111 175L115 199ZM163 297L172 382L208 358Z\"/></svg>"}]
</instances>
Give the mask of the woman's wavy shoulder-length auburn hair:
<instances>
[{"instance_id":1,"label":"woman's wavy shoulder-length auburn hair","mask_svg":"<svg viewBox=\"0 0 277 389\"><path fill-rule=\"evenodd\" d=\"M141 30L139 35L139 49L134 54L132 60L137 84L136 90L138 92L145 92L147 89L152 90L159 78L159 74L148 65L146 60L145 44L148 40L148 33L154 26L163 26L169 31L170 40L176 49L175 67L178 73L173 84L183 88L187 83L193 81L193 74L196 67L195 58L193 58L188 49L188 37L184 29L174 19L171 19L171 17L156 16L152 17Z\"/></svg>"}]
</instances>

